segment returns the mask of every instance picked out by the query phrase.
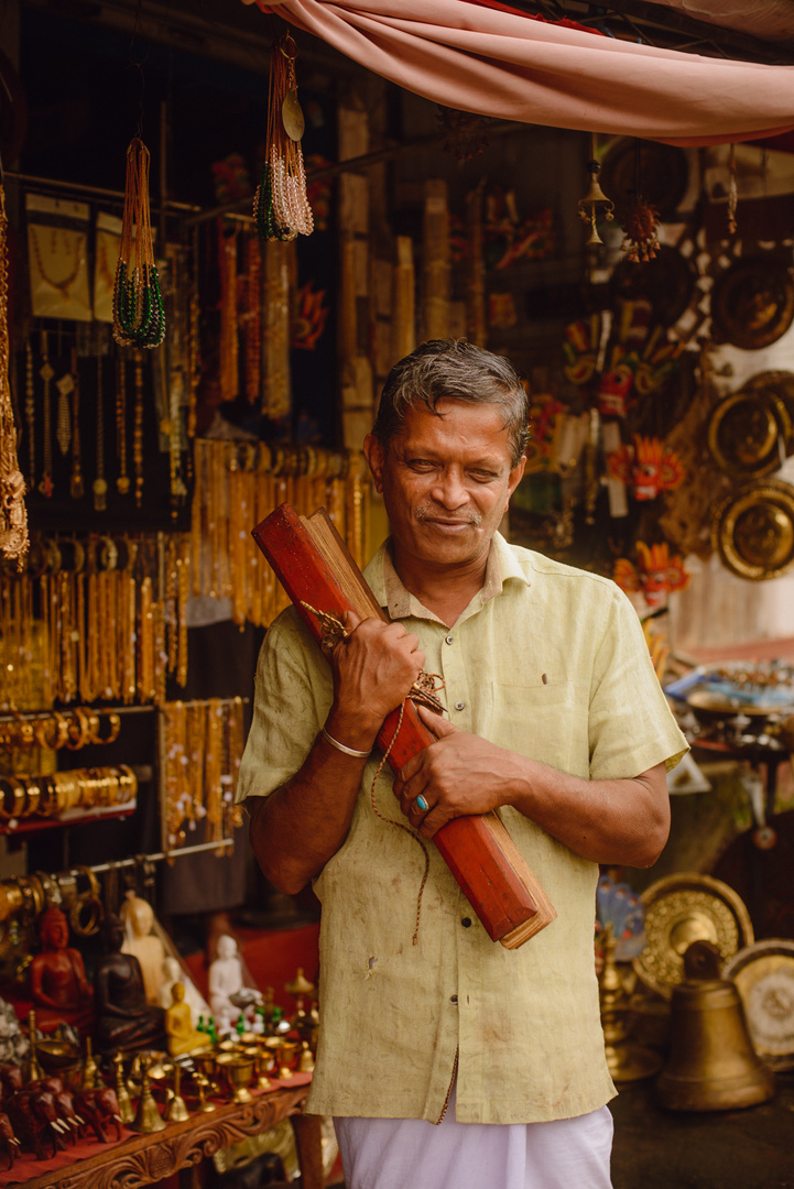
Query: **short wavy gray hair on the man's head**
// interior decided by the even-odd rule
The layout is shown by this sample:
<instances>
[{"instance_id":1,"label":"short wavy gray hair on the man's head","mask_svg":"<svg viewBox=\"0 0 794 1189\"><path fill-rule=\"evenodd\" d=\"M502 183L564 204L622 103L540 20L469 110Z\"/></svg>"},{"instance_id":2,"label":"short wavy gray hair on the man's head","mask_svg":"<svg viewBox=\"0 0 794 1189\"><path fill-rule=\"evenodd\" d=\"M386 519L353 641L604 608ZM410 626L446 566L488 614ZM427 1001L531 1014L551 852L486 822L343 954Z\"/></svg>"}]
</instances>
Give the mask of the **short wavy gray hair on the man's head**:
<instances>
[{"instance_id":1,"label":"short wavy gray hair on the man's head","mask_svg":"<svg viewBox=\"0 0 794 1189\"><path fill-rule=\"evenodd\" d=\"M441 416L437 404L443 400L498 405L511 465L518 465L529 441L527 392L509 359L467 339L429 339L395 364L383 385L373 436L385 449L403 428L408 409L426 408Z\"/></svg>"}]
</instances>

